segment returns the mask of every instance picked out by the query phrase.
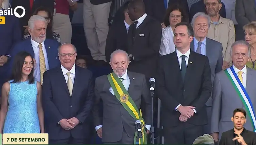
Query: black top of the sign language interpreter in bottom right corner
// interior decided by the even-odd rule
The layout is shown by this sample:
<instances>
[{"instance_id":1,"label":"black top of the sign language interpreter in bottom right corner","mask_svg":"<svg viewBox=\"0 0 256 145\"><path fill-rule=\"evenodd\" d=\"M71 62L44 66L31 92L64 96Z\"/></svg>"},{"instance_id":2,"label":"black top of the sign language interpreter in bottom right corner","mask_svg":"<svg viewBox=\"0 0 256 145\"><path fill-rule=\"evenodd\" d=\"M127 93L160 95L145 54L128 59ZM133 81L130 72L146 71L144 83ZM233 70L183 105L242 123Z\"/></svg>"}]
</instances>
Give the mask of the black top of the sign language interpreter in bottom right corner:
<instances>
[{"instance_id":1,"label":"black top of the sign language interpreter in bottom right corner","mask_svg":"<svg viewBox=\"0 0 256 145\"><path fill-rule=\"evenodd\" d=\"M243 137L243 139L247 145L256 145L256 133L255 132L246 130L244 128L243 132L240 135ZM219 145L236 145L236 141L232 140L233 138L235 138L235 136L237 136L237 135L234 133L234 129L223 132Z\"/></svg>"}]
</instances>

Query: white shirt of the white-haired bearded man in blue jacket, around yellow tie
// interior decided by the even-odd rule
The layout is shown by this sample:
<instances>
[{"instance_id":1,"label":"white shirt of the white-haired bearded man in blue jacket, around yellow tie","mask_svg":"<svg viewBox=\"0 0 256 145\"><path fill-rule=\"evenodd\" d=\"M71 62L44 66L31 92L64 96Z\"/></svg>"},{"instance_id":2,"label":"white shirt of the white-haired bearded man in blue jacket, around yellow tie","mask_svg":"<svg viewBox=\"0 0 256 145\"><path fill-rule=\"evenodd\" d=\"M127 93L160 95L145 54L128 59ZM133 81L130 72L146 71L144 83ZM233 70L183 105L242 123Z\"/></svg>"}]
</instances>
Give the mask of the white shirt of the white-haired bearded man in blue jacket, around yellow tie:
<instances>
[{"instance_id":1,"label":"white shirt of the white-haired bearded man in blue jacket, around yellow tie","mask_svg":"<svg viewBox=\"0 0 256 145\"><path fill-rule=\"evenodd\" d=\"M35 54L35 60L36 60L36 65L34 66L34 70L35 70L34 71L34 78L35 78L36 81L41 82L39 47L38 47L39 43L34 41L32 39L32 37L30 37L30 40L31 40L31 44L32 44L32 47L33 47L33 51L34 51L34 54ZM48 58L47 58L47 53L46 53L44 42L41 43L41 44L42 44L42 50L43 50L46 70L49 70Z\"/></svg>"}]
</instances>

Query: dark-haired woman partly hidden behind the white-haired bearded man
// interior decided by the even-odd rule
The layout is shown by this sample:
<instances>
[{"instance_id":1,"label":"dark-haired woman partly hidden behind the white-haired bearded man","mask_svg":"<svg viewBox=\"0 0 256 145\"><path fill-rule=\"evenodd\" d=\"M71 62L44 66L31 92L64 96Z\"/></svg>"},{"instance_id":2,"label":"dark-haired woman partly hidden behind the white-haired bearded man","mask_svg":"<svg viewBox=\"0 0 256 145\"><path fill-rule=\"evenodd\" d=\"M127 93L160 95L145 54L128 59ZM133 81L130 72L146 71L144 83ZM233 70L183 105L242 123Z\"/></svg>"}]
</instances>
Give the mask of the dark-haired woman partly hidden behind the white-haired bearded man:
<instances>
[{"instance_id":1,"label":"dark-haired woman partly hidden behind the white-haired bearded man","mask_svg":"<svg viewBox=\"0 0 256 145\"><path fill-rule=\"evenodd\" d=\"M49 11L49 9L45 7L39 7L36 9L36 11L32 15L39 15L46 19L48 22L47 28L46 28L46 38L47 39L55 39L60 44L60 35L56 32L52 31L52 21L53 16L52 13ZM23 39L30 38L29 32L25 32L23 34Z\"/></svg>"}]
</instances>

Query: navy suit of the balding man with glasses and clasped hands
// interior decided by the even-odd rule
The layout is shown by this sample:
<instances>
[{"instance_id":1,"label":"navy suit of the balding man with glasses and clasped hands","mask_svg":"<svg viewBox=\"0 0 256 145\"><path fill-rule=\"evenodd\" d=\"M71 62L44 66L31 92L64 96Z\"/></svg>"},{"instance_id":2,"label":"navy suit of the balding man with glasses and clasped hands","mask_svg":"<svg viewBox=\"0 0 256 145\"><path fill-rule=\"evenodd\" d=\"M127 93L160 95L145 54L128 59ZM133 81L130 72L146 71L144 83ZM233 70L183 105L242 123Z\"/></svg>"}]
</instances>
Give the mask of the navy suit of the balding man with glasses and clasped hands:
<instances>
[{"instance_id":1,"label":"navy suit of the balding man with glasses and clasped hands","mask_svg":"<svg viewBox=\"0 0 256 145\"><path fill-rule=\"evenodd\" d=\"M45 132L49 144L84 144L89 136L89 115L93 106L94 80L91 71L75 67L72 96L60 66L45 71L42 87L42 101L45 114ZM71 130L63 129L61 119L76 117L80 123ZM73 140L70 141L70 138Z\"/></svg>"}]
</instances>

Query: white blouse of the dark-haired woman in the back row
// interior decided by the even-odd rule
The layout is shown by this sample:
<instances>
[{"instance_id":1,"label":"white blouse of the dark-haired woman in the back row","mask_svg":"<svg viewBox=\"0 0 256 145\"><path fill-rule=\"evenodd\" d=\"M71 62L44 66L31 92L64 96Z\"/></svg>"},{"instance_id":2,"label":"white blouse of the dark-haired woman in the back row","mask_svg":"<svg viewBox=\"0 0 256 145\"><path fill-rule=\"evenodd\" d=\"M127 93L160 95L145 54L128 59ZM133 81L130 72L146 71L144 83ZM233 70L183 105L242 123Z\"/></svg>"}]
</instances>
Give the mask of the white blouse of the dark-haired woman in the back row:
<instances>
[{"instance_id":1,"label":"white blouse of the dark-haired woman in the back row","mask_svg":"<svg viewBox=\"0 0 256 145\"><path fill-rule=\"evenodd\" d=\"M175 50L175 45L173 42L173 31L170 26L162 29L162 39L159 49L160 55L167 55L173 53Z\"/></svg>"}]
</instances>

